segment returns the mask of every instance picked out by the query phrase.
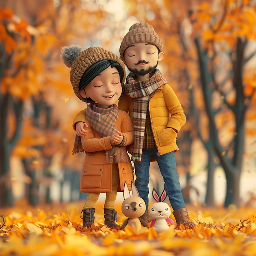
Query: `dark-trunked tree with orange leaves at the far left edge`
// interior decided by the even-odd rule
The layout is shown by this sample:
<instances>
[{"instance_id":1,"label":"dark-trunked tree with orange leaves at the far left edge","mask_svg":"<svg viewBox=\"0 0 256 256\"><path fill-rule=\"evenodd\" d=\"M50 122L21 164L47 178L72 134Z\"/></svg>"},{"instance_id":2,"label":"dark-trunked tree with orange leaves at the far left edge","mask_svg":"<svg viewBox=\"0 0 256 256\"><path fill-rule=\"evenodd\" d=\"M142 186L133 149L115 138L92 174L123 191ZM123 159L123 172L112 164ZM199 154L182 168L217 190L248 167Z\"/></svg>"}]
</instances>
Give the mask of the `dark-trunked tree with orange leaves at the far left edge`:
<instances>
[{"instance_id":1,"label":"dark-trunked tree with orange leaves at the far left edge","mask_svg":"<svg viewBox=\"0 0 256 256\"><path fill-rule=\"evenodd\" d=\"M11 83L17 83L20 75L24 75L22 66L27 64L22 61L15 62L13 58L15 58L14 52L18 53L16 60L21 57L22 47L31 44L31 36L27 31L25 20L17 22L13 19L13 12L7 8L0 9L0 30L0 205L4 206L5 202L10 202L10 205L13 202L9 158L20 137L24 105L22 97L30 92L26 83L19 83L18 90ZM13 76L16 76L18 80L11 81ZM21 94L23 94L22 97ZM11 122L14 123L16 129L12 129Z\"/></svg>"}]
</instances>

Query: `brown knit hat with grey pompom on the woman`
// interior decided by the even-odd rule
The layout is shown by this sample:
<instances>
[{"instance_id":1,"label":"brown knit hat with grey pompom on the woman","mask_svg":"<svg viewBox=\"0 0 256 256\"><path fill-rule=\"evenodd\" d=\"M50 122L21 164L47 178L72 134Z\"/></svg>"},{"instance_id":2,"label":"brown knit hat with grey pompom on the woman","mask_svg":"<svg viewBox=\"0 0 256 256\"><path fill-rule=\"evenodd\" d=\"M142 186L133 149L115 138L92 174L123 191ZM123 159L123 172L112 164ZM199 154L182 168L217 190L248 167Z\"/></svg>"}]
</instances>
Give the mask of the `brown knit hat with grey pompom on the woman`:
<instances>
[{"instance_id":1,"label":"brown knit hat with grey pompom on the woman","mask_svg":"<svg viewBox=\"0 0 256 256\"><path fill-rule=\"evenodd\" d=\"M90 47L83 51L79 45L65 46L62 48L61 59L67 67L71 67L70 82L74 93L82 101L86 101L86 99L79 94L79 83L85 71L93 64L104 60L117 61L124 70L121 85L124 84L126 79L124 62L116 54L101 47Z\"/></svg>"}]
</instances>

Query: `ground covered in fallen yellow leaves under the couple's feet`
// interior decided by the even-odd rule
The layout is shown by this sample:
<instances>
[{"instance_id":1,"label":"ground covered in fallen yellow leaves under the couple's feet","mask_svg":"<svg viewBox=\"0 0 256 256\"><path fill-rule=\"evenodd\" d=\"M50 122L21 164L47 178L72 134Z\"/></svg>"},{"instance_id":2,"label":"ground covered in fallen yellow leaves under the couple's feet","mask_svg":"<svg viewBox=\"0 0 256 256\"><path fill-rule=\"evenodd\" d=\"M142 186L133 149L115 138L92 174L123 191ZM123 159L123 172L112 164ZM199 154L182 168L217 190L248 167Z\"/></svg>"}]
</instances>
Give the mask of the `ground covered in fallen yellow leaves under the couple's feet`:
<instances>
[{"instance_id":1,"label":"ground covered in fallen yellow leaves under the couple's feet","mask_svg":"<svg viewBox=\"0 0 256 256\"><path fill-rule=\"evenodd\" d=\"M187 205L197 226L110 230L103 204L96 206L95 227L82 227L83 202L0 209L0 255L29 256L256 256L256 207ZM126 219L117 204L118 222ZM171 216L173 218L173 216ZM174 220L174 218L173 218Z\"/></svg>"}]
</instances>

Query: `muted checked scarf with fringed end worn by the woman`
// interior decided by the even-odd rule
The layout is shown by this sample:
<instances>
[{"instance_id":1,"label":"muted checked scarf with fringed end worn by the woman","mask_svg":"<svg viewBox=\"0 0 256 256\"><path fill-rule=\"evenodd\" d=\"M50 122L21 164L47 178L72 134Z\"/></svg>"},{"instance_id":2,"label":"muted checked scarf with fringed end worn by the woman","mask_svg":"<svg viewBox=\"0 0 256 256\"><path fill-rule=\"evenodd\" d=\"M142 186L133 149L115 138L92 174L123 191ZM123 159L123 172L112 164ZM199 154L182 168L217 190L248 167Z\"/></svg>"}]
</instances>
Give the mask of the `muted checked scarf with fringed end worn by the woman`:
<instances>
[{"instance_id":1,"label":"muted checked scarf with fringed end worn by the woman","mask_svg":"<svg viewBox=\"0 0 256 256\"><path fill-rule=\"evenodd\" d=\"M111 136L117 132L115 122L118 117L117 105L113 104L109 108L99 108L98 103L90 103L86 110L86 121L102 137ZM126 162L128 159L124 155L120 144L112 146L112 149L106 150L107 163Z\"/></svg>"}]
</instances>

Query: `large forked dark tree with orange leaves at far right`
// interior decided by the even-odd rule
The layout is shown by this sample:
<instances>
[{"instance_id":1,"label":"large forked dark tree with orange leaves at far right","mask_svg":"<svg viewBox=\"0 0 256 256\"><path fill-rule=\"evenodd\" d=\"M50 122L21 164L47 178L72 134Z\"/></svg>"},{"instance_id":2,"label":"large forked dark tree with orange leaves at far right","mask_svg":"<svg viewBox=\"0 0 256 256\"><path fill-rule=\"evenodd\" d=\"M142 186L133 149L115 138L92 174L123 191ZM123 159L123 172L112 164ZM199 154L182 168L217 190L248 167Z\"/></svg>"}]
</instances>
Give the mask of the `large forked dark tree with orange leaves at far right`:
<instances>
[{"instance_id":1,"label":"large forked dark tree with orange leaves at far right","mask_svg":"<svg viewBox=\"0 0 256 256\"><path fill-rule=\"evenodd\" d=\"M202 4L191 21L210 137L227 180L225 207L239 206L245 122L256 99L256 9L247 1Z\"/></svg>"}]
</instances>

